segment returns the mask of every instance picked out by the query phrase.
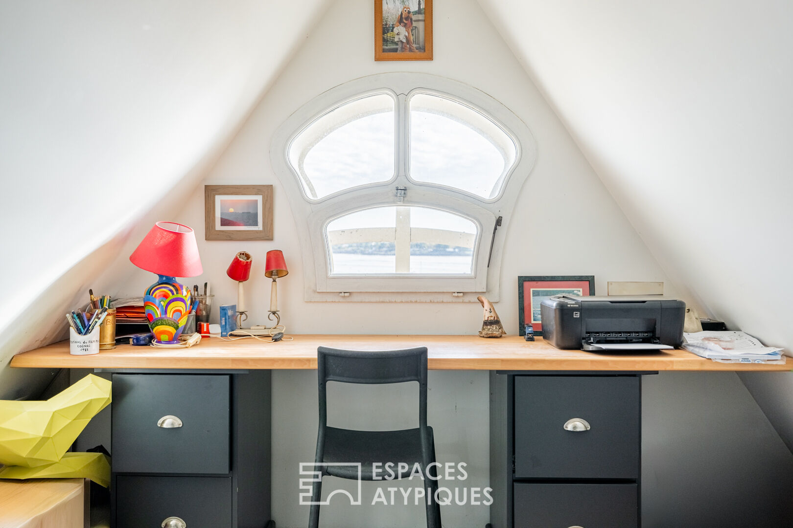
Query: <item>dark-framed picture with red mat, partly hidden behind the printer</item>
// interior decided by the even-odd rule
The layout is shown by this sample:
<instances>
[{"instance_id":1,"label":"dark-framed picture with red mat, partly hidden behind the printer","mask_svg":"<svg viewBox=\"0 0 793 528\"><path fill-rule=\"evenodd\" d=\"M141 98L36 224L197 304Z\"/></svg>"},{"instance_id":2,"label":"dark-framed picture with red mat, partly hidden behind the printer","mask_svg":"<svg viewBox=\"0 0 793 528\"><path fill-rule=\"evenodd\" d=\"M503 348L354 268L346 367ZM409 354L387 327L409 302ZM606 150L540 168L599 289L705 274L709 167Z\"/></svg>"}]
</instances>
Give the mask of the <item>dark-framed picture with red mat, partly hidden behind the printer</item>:
<instances>
[{"instance_id":1,"label":"dark-framed picture with red mat, partly hidden behind the printer","mask_svg":"<svg viewBox=\"0 0 793 528\"><path fill-rule=\"evenodd\" d=\"M518 277L518 333L526 335L526 314L535 336L542 336L542 319L539 316L542 298L564 293L577 293L584 297L595 294L595 275L527 275Z\"/></svg>"}]
</instances>

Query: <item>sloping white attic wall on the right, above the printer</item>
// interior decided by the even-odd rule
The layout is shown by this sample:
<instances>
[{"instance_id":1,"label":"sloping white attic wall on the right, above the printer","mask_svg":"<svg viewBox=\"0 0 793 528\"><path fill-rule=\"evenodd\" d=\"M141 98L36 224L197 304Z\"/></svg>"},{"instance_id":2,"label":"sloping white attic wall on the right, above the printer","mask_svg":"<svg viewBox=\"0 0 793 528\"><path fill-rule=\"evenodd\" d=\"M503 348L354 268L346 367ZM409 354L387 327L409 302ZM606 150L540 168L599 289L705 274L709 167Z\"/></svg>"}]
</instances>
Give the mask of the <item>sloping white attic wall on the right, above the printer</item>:
<instances>
[{"instance_id":1,"label":"sloping white attic wall on the right, above the printer","mask_svg":"<svg viewBox=\"0 0 793 528\"><path fill-rule=\"evenodd\" d=\"M793 3L479 2L672 281L793 350ZM742 378L793 449L793 378Z\"/></svg>"}]
</instances>

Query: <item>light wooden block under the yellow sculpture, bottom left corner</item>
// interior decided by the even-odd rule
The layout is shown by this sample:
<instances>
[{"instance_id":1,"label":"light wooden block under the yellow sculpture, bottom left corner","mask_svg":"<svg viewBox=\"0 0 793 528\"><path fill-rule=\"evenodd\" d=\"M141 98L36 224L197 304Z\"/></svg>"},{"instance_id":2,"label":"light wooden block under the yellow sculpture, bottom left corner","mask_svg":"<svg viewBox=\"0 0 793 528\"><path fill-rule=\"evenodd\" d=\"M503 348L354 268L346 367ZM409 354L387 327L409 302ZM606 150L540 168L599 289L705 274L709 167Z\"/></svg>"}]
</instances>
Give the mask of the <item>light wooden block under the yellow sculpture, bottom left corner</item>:
<instances>
[{"instance_id":1,"label":"light wooden block under the yellow sculpture, bottom left corner","mask_svg":"<svg viewBox=\"0 0 793 528\"><path fill-rule=\"evenodd\" d=\"M89 483L0 479L0 528L88 528Z\"/></svg>"}]
</instances>

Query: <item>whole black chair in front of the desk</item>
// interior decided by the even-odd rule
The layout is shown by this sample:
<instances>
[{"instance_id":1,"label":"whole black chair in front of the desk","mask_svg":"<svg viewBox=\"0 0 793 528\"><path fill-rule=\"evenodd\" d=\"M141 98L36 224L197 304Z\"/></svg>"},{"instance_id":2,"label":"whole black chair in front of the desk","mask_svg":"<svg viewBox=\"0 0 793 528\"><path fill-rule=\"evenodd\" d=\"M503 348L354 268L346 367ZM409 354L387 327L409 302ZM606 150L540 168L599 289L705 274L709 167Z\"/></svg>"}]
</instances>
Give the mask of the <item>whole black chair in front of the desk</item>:
<instances>
[{"instance_id":1,"label":"whole black chair in front of the desk","mask_svg":"<svg viewBox=\"0 0 793 528\"><path fill-rule=\"evenodd\" d=\"M320 347L317 349L317 378L320 389L320 427L316 438L315 471L332 477L358 479L358 467L334 465L361 463L364 481L374 480L373 462L393 463L395 478L409 477L419 464L424 476L423 488L427 500L427 528L441 528L441 512L435 502L438 473L435 467L435 439L427 425L427 348L408 348L394 351L351 351ZM419 382L419 427L403 431L353 431L328 427L327 382L343 383L402 383ZM408 464L406 472L398 471L398 463ZM378 477L386 473L384 465ZM308 528L319 528L322 497L322 477L312 484L311 515ZM428 478L433 477L433 478ZM429 488L429 492L427 492Z\"/></svg>"}]
</instances>

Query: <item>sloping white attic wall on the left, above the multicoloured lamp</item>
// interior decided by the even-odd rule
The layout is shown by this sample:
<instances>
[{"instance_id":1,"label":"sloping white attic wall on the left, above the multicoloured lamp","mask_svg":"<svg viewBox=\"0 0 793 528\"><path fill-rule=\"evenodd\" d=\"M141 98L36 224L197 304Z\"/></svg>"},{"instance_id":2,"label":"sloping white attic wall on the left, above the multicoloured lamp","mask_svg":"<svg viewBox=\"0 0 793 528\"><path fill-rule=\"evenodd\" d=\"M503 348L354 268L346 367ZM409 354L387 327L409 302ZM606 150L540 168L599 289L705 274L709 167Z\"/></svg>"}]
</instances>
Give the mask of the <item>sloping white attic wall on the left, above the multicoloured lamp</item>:
<instances>
[{"instance_id":1,"label":"sloping white attic wall on the left, above the multicoloured lamp","mask_svg":"<svg viewBox=\"0 0 793 528\"><path fill-rule=\"evenodd\" d=\"M181 210L327 3L2 2L0 397L40 386L10 357Z\"/></svg>"}]
</instances>

